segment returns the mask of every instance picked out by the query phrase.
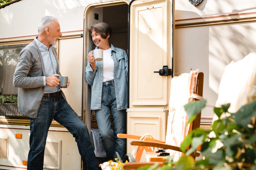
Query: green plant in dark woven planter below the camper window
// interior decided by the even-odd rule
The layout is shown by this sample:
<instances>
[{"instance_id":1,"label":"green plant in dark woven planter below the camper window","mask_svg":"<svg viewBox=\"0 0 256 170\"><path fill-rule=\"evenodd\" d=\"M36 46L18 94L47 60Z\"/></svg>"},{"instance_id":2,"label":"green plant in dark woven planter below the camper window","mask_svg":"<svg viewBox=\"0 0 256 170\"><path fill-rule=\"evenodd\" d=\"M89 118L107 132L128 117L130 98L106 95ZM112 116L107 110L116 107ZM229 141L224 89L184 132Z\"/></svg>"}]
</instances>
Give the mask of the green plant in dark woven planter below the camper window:
<instances>
[{"instance_id":1,"label":"green plant in dark woven planter below the camper window","mask_svg":"<svg viewBox=\"0 0 256 170\"><path fill-rule=\"evenodd\" d=\"M25 116L18 111L18 97L0 94L0 116Z\"/></svg>"}]
</instances>

